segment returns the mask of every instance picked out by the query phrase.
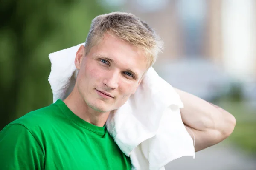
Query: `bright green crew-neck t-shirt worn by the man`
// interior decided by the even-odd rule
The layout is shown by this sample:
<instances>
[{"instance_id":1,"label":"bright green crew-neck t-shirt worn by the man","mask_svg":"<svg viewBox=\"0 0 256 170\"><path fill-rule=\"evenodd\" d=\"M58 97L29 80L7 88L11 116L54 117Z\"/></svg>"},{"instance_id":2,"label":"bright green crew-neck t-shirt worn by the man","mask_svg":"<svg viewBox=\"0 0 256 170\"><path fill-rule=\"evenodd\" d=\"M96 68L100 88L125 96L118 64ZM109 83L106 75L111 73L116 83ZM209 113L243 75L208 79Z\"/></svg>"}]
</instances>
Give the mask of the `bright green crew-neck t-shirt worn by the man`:
<instances>
[{"instance_id":1,"label":"bright green crew-neck t-shirt worn by the man","mask_svg":"<svg viewBox=\"0 0 256 170\"><path fill-rule=\"evenodd\" d=\"M76 116L60 99L0 132L0 170L131 170L105 127Z\"/></svg>"}]
</instances>

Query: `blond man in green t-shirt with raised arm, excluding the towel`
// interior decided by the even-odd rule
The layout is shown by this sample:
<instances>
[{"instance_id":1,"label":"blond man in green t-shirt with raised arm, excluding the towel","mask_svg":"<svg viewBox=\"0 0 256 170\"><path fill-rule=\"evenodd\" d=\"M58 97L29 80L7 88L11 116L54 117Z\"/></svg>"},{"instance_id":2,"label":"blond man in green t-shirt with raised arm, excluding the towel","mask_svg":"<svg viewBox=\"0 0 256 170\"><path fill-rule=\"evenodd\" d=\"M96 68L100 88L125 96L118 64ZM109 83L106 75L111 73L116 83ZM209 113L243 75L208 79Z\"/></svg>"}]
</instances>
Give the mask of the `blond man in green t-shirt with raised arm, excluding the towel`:
<instances>
[{"instance_id":1,"label":"blond man in green t-shirt with raised arm, excluding the towel","mask_svg":"<svg viewBox=\"0 0 256 170\"><path fill-rule=\"evenodd\" d=\"M1 170L128 170L130 159L105 129L111 111L134 94L162 45L132 14L96 17L76 53L76 85L64 101L32 111L0 132ZM235 119L226 111L177 89L184 125L195 151L229 136ZM189 131L190 135L193 134Z\"/></svg>"}]
</instances>

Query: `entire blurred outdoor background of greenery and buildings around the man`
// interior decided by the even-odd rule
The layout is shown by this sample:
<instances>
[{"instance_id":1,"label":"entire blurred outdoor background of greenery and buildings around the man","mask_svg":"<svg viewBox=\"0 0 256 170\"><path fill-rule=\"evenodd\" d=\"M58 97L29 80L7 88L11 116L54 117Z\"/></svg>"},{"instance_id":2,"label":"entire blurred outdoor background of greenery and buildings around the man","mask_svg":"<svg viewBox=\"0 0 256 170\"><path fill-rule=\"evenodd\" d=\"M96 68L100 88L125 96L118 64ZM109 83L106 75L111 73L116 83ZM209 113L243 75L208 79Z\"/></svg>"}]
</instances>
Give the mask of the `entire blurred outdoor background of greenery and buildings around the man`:
<instances>
[{"instance_id":1,"label":"entire blurred outdoor background of greenery and buildings around the man","mask_svg":"<svg viewBox=\"0 0 256 170\"><path fill-rule=\"evenodd\" d=\"M84 42L112 11L160 35L154 68L167 82L236 117L228 139L166 170L256 170L256 0L0 0L0 130L52 103L49 53Z\"/></svg>"}]
</instances>

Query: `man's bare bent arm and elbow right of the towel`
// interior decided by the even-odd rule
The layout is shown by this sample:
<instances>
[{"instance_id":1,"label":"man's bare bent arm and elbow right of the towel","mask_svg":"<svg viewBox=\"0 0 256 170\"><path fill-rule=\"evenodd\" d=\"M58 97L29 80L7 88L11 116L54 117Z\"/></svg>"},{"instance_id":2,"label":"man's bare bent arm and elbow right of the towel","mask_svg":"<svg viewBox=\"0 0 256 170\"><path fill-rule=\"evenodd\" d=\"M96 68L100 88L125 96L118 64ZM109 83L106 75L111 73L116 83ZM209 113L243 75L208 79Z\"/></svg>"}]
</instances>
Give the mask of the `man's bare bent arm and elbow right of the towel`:
<instances>
[{"instance_id":1,"label":"man's bare bent arm and elbow right of the towel","mask_svg":"<svg viewBox=\"0 0 256 170\"><path fill-rule=\"evenodd\" d=\"M203 150L226 139L233 132L236 119L224 109L197 96L175 89L184 108L180 109L186 127L195 135L195 151ZM193 138L193 134L187 130Z\"/></svg>"}]
</instances>

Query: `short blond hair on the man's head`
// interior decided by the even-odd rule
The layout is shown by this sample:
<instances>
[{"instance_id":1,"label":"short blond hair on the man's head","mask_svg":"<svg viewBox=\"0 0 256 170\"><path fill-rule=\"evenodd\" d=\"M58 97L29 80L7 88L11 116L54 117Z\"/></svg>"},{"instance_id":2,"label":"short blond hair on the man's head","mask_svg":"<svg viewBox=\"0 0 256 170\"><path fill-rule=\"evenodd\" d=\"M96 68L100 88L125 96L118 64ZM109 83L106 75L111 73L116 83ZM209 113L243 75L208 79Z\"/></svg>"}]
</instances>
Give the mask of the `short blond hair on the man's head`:
<instances>
[{"instance_id":1,"label":"short blond hair on the man's head","mask_svg":"<svg viewBox=\"0 0 256 170\"><path fill-rule=\"evenodd\" d=\"M149 66L157 60L159 52L163 51L163 42L147 23L133 14L112 12L102 14L92 20L90 31L85 41L86 55L97 45L104 34L111 34L121 40L143 49Z\"/></svg>"}]
</instances>

